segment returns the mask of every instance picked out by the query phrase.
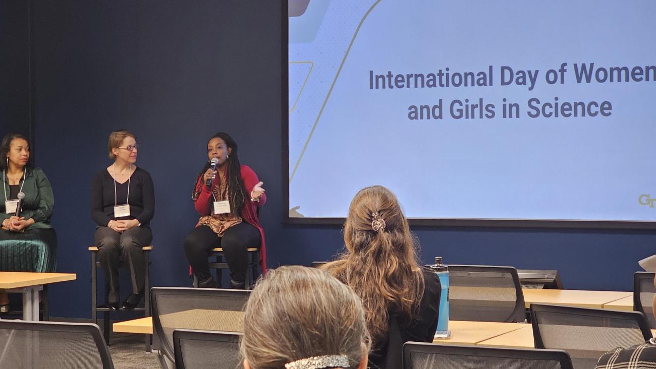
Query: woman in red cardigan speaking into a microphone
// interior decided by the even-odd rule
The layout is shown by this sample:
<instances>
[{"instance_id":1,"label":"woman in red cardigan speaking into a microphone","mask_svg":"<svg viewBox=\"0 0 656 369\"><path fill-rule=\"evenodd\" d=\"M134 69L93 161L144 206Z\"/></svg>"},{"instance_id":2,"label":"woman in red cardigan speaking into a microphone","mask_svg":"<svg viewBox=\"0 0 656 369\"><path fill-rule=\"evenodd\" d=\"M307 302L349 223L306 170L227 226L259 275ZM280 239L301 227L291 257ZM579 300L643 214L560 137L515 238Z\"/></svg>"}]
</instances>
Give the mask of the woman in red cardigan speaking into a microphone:
<instances>
[{"instance_id":1,"label":"woman in red cardigan speaking into a microphone","mask_svg":"<svg viewBox=\"0 0 656 369\"><path fill-rule=\"evenodd\" d=\"M230 268L230 286L245 288L247 248L260 248L262 272L266 272L264 231L256 212L256 206L266 203L266 195L253 169L239 164L237 144L227 133L218 132L207 142L207 157L209 161L198 174L192 191L201 218L184 238L184 253L198 286L216 288L209 271L209 252L223 248ZM213 160L214 171L210 168Z\"/></svg>"}]
</instances>

